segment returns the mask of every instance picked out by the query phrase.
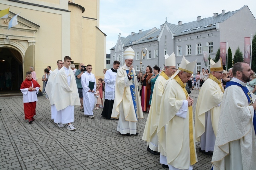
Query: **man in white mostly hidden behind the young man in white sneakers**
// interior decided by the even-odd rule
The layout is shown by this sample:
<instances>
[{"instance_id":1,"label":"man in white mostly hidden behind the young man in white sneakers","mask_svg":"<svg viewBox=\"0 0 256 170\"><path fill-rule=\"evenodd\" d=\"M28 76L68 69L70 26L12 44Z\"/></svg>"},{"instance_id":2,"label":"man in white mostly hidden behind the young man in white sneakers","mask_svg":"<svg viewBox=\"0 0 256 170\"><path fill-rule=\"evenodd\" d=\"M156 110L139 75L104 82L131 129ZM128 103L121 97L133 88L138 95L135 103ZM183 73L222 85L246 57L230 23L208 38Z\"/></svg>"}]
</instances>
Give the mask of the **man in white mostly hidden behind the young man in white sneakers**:
<instances>
[{"instance_id":1,"label":"man in white mostly hidden behind the young man in white sneakers","mask_svg":"<svg viewBox=\"0 0 256 170\"><path fill-rule=\"evenodd\" d=\"M57 68L50 74L48 82L47 82L47 86L45 88L45 91L47 92L47 94L49 96L49 99L50 99L52 119L55 118L55 115L57 113L57 110L56 110L56 107L55 107L55 104L54 104L53 98L52 98L52 88L53 88L53 85L54 85L56 75L62 67L63 67L63 61L58 60L57 61ZM63 124L60 123L60 124L58 124L58 126L63 127Z\"/></svg>"}]
</instances>

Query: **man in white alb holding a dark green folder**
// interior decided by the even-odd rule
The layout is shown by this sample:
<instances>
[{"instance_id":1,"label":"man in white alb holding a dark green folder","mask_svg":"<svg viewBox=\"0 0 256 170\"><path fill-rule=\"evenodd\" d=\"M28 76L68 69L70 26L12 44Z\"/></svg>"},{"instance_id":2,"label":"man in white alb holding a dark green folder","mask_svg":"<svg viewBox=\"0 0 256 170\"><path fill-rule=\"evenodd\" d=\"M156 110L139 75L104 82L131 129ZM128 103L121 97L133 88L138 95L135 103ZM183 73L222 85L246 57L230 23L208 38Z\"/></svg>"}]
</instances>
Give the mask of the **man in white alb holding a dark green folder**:
<instances>
[{"instance_id":1,"label":"man in white alb holding a dark green folder","mask_svg":"<svg viewBox=\"0 0 256 170\"><path fill-rule=\"evenodd\" d=\"M95 104L94 92L96 92L96 79L94 74L92 74L91 64L86 66L86 72L81 75L81 84L83 87L84 115L94 118L95 116L92 111Z\"/></svg>"}]
</instances>

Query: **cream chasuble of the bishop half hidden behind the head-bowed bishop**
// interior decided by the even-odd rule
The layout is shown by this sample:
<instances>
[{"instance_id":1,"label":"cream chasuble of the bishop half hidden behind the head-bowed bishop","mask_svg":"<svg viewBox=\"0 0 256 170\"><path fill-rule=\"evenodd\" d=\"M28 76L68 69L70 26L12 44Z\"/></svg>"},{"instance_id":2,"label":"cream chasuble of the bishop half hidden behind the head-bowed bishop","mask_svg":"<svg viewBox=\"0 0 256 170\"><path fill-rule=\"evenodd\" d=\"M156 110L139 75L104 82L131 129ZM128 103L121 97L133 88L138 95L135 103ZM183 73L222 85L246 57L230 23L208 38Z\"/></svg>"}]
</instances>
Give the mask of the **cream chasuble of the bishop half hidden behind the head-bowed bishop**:
<instances>
[{"instance_id":1,"label":"cream chasuble of the bishop half hidden behind the head-bowed bishop","mask_svg":"<svg viewBox=\"0 0 256 170\"><path fill-rule=\"evenodd\" d=\"M151 141L151 138L153 138L152 136L153 134L156 135L157 137L156 132L157 132L157 126L159 122L161 98L164 91L164 85L168 79L169 77L165 74L164 71L162 71L155 82L149 115L145 125L144 133L142 136L142 140L145 140L147 142L153 142ZM157 151L158 142L153 143L152 145L154 145L155 147L152 146L153 148L150 147L150 149Z\"/></svg>"}]
</instances>

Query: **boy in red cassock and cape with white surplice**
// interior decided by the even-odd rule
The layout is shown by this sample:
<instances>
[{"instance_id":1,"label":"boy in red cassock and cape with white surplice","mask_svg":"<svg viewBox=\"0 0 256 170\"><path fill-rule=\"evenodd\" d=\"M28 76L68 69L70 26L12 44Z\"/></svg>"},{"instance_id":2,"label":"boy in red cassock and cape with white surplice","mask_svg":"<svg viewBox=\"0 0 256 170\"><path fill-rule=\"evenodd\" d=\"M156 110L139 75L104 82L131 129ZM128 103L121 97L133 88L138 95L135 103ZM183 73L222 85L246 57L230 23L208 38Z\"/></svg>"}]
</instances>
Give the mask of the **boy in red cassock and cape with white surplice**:
<instances>
[{"instance_id":1,"label":"boy in red cassock and cape with white surplice","mask_svg":"<svg viewBox=\"0 0 256 170\"><path fill-rule=\"evenodd\" d=\"M31 72L26 72L26 79L22 82L20 91L23 93L25 120L28 119L29 124L34 120L33 116L35 115L35 105L37 101L36 94L39 88L40 85L37 81L33 80Z\"/></svg>"}]
</instances>

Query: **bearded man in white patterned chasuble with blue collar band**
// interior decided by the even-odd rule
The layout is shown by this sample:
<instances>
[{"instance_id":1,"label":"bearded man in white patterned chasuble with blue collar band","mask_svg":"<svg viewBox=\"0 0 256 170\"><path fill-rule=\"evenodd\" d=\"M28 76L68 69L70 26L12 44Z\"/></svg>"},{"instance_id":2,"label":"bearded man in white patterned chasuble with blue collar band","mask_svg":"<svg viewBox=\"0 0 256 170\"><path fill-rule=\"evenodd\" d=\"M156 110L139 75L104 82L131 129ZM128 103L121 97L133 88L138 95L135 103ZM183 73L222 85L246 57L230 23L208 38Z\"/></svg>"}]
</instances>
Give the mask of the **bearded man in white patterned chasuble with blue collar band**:
<instances>
[{"instance_id":1,"label":"bearded man in white patterned chasuble with blue collar band","mask_svg":"<svg viewBox=\"0 0 256 170\"><path fill-rule=\"evenodd\" d=\"M226 84L215 141L214 170L256 168L256 96L246 83L254 74L249 64L234 64L234 78Z\"/></svg>"}]
</instances>

